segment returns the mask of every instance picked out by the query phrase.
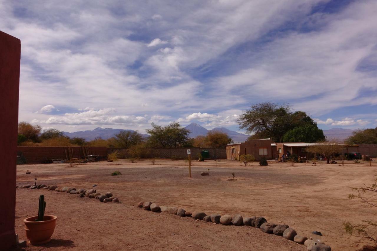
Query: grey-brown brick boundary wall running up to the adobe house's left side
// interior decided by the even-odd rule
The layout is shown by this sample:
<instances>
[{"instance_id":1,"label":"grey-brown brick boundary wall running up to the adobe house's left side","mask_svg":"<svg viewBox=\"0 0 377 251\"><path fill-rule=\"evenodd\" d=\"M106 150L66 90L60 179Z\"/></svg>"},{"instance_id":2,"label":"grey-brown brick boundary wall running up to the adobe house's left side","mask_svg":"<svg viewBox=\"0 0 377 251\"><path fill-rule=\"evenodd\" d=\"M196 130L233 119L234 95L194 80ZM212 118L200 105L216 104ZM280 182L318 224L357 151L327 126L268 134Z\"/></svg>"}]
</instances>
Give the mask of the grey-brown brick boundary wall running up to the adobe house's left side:
<instances>
[{"instance_id":1,"label":"grey-brown brick boundary wall running up to the adobe house's left side","mask_svg":"<svg viewBox=\"0 0 377 251\"><path fill-rule=\"evenodd\" d=\"M201 151L209 151L210 159L226 159L227 152L225 147L221 148L195 148L195 147L188 147L188 148L146 148L143 158L152 158L152 157L159 157L159 158L166 158L166 159L184 159L187 157L187 149L191 150L191 156L196 159ZM128 150L126 148L107 148L107 153L113 153L118 151L120 157L127 158L129 157Z\"/></svg>"}]
</instances>

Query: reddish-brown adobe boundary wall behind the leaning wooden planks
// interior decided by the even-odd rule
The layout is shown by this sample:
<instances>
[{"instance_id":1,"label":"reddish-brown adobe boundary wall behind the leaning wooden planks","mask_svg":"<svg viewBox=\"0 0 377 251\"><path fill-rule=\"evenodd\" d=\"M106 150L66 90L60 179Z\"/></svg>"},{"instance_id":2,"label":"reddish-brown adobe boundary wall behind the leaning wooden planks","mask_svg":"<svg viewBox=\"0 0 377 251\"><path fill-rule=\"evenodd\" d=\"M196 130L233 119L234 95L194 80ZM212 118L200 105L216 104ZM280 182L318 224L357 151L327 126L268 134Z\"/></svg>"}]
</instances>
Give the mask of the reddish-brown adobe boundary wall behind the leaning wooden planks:
<instances>
[{"instance_id":1,"label":"reddish-brown adobe boundary wall behind the leaning wooden planks","mask_svg":"<svg viewBox=\"0 0 377 251\"><path fill-rule=\"evenodd\" d=\"M106 147L87 147L91 155L107 156ZM44 159L66 159L68 147L23 147L17 146L17 151L22 152L29 163L42 163ZM73 150L73 156L83 156L82 147L69 147Z\"/></svg>"}]
</instances>

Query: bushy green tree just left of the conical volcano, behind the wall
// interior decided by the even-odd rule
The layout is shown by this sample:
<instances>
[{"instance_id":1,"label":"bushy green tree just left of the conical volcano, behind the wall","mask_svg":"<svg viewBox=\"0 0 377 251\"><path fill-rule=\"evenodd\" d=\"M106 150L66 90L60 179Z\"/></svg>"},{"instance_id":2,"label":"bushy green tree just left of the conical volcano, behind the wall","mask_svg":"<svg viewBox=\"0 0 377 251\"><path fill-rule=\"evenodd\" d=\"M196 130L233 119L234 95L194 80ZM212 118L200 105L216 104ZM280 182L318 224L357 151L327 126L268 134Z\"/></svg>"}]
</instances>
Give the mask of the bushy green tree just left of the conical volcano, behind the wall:
<instances>
[{"instance_id":1,"label":"bushy green tree just left of the conical volcano, behind the wall","mask_svg":"<svg viewBox=\"0 0 377 251\"><path fill-rule=\"evenodd\" d=\"M150 147L176 148L185 145L190 131L181 127L178 122L167 126L158 126L152 123L152 129L146 130L150 135L147 142Z\"/></svg>"}]
</instances>

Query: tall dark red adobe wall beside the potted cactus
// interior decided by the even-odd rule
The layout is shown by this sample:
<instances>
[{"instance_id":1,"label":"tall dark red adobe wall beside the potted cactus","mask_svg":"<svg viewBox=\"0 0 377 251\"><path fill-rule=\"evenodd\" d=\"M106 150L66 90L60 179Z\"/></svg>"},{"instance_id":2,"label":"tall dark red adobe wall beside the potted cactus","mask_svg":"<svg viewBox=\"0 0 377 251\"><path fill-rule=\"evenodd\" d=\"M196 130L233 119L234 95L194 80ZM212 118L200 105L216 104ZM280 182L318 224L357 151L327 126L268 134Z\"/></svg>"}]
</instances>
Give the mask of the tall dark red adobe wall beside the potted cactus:
<instances>
[{"instance_id":1,"label":"tall dark red adobe wall beside the potted cactus","mask_svg":"<svg viewBox=\"0 0 377 251\"><path fill-rule=\"evenodd\" d=\"M0 31L0 248L15 244L16 151L21 41Z\"/></svg>"}]
</instances>

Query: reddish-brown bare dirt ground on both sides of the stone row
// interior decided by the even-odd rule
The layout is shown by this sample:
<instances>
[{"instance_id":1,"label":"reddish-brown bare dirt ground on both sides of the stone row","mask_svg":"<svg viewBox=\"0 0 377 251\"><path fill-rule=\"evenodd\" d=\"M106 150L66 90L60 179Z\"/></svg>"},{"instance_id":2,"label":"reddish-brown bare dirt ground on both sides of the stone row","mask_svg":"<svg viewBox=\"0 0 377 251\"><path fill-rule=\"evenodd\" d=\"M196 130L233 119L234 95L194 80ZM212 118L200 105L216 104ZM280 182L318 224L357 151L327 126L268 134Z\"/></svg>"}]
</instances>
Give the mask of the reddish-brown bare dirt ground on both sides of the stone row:
<instances>
[{"instance_id":1,"label":"reddish-brown bare dirt ground on both sides of the stone row","mask_svg":"<svg viewBox=\"0 0 377 251\"><path fill-rule=\"evenodd\" d=\"M373 219L375 210L349 200L350 187L371 184L377 163L345 166L317 163L269 163L241 166L239 162L208 160L188 164L181 160L158 159L130 163L120 160L68 164L18 165L17 184L57 184L112 192L122 203L100 203L65 192L17 189L15 231L26 239L23 219L37 215L38 197L44 194L46 214L58 216L50 243L28 245L22 250L306 250L305 246L260 229L213 225L153 213L136 207L139 201L160 206L177 206L186 211L264 216L268 222L287 224L299 235L322 232L332 250L357 250L368 242L356 243L343 222ZM209 169L209 176L200 172ZM25 174L29 170L31 174ZM113 171L122 175L111 176ZM228 181L231 173L236 181ZM43 191L42 191L43 190Z\"/></svg>"}]
</instances>

